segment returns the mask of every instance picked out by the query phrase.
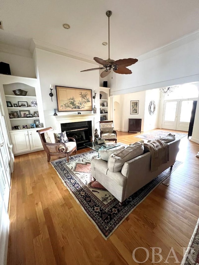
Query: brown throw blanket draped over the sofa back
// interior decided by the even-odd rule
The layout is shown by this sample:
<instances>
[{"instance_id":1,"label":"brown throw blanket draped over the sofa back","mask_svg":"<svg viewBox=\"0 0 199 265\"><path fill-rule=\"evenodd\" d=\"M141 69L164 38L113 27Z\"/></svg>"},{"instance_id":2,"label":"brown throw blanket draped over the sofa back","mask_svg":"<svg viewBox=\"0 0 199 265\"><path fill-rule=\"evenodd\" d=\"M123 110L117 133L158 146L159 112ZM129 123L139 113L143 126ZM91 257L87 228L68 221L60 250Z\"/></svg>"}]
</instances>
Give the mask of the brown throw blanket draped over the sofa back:
<instances>
[{"instance_id":1,"label":"brown throw blanket draped over the sofa back","mask_svg":"<svg viewBox=\"0 0 199 265\"><path fill-rule=\"evenodd\" d=\"M164 141L155 140L144 144L144 149L151 153L150 170L156 171L161 164L169 161L169 145Z\"/></svg>"}]
</instances>

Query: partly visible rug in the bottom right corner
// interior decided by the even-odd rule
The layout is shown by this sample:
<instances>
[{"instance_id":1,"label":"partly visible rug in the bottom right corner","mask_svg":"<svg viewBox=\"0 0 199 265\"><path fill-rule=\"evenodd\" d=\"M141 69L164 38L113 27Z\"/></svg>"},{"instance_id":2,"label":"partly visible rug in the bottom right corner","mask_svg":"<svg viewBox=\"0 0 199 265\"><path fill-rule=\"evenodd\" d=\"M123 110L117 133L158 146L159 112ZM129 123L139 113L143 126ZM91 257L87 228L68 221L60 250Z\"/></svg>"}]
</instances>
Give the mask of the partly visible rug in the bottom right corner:
<instances>
[{"instance_id":1,"label":"partly visible rug in the bottom right corner","mask_svg":"<svg viewBox=\"0 0 199 265\"><path fill-rule=\"evenodd\" d=\"M199 219L181 265L199 264Z\"/></svg>"}]
</instances>

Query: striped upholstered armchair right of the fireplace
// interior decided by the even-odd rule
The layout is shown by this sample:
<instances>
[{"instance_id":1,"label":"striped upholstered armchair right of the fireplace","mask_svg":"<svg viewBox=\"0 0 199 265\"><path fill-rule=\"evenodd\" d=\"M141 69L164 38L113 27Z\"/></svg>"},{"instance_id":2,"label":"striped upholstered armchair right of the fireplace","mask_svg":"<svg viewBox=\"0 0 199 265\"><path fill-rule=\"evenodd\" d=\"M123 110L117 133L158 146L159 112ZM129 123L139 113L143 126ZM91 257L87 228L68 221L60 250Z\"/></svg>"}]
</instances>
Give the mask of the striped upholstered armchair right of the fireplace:
<instances>
[{"instance_id":1,"label":"striped upholstered armchair right of the fireplace","mask_svg":"<svg viewBox=\"0 0 199 265\"><path fill-rule=\"evenodd\" d=\"M113 121L99 121L99 126L102 139L117 143L117 132L114 130Z\"/></svg>"}]
</instances>

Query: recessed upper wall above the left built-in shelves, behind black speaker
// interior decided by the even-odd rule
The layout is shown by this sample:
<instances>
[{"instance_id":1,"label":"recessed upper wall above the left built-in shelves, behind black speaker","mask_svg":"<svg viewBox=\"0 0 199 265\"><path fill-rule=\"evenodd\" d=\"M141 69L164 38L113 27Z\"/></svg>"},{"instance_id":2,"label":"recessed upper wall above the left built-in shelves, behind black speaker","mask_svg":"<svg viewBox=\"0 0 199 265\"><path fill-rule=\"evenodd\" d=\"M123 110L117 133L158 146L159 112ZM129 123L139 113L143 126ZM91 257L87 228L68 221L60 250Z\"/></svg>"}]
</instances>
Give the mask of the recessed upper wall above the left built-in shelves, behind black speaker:
<instances>
[{"instance_id":1,"label":"recessed upper wall above the left built-in shelves, behind black speaker","mask_svg":"<svg viewBox=\"0 0 199 265\"><path fill-rule=\"evenodd\" d=\"M10 45L0 45L0 62L10 65L11 75L36 78L34 62L29 51Z\"/></svg>"}]
</instances>

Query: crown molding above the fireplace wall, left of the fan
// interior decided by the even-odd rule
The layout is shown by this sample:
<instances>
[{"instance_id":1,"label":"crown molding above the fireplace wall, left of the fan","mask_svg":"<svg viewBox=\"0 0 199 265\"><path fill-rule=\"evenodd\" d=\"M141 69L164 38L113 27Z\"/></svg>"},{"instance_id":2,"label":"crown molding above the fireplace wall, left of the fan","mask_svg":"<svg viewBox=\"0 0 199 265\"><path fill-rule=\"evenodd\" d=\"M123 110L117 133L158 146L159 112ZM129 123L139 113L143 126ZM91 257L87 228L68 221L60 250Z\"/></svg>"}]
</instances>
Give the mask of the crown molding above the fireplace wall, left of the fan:
<instances>
[{"instance_id":1,"label":"crown molding above the fireplace wall, left of the fan","mask_svg":"<svg viewBox=\"0 0 199 265\"><path fill-rule=\"evenodd\" d=\"M44 50L44 51L48 51L48 52L51 52L51 53L56 53L56 54L59 54L59 55L63 55L63 56L66 56L66 57L71 57L71 58L74 58L74 59L77 59L77 60L80 60L80 61L89 62L89 63L92 63L92 64L99 65L93 60L93 58L88 57L88 56L86 56L84 54L76 53L76 52L67 50L65 48L59 47L59 46L55 46L55 45L52 45L52 44L49 44L49 43L45 43L45 42L42 42L42 41L39 41L39 40L36 40L36 39L32 39L31 44L30 44L30 52L32 54L33 54L35 48L38 48L38 49L41 49L41 50Z\"/></svg>"}]
</instances>

